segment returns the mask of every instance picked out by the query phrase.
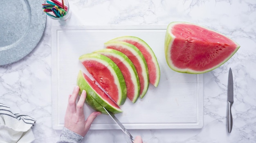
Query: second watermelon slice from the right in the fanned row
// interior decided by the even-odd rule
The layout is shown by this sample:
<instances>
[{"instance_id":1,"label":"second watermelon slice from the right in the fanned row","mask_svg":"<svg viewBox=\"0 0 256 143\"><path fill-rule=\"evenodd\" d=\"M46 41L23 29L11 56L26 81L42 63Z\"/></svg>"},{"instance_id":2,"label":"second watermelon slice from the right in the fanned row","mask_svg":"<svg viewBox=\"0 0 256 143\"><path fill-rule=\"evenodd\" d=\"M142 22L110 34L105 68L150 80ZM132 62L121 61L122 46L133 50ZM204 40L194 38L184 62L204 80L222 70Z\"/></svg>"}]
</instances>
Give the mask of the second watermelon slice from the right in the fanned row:
<instances>
[{"instance_id":1,"label":"second watermelon slice from the right in the fanned row","mask_svg":"<svg viewBox=\"0 0 256 143\"><path fill-rule=\"evenodd\" d=\"M104 43L104 45L108 49L114 49L124 53L132 61L139 76L139 97L143 98L148 91L149 85L148 65L143 54L139 51L137 47L135 47L135 45L123 41L107 42Z\"/></svg>"}]
</instances>

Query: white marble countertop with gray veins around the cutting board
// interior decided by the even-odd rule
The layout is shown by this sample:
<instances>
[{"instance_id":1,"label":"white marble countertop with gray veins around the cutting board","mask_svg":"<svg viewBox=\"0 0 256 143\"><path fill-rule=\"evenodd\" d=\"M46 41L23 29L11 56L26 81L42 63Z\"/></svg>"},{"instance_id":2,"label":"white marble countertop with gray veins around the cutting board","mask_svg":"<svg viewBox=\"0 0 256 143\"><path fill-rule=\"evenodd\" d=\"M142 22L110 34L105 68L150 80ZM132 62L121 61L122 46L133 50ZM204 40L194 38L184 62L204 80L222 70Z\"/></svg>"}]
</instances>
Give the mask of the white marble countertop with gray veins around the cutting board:
<instances>
[{"instance_id":1,"label":"white marble countertop with gray veins around the cutting board","mask_svg":"<svg viewBox=\"0 0 256 143\"><path fill-rule=\"evenodd\" d=\"M130 130L146 143L256 142L256 1L255 0L69 0L67 25L168 25L192 22L221 32L240 49L229 61L204 77L204 126L201 129ZM51 28L22 60L0 67L0 102L14 113L37 121L34 143L54 143L60 130L52 129ZM227 75L234 76L233 130L227 133ZM70 93L67 93L70 94ZM121 130L90 130L84 143L124 143Z\"/></svg>"}]
</instances>

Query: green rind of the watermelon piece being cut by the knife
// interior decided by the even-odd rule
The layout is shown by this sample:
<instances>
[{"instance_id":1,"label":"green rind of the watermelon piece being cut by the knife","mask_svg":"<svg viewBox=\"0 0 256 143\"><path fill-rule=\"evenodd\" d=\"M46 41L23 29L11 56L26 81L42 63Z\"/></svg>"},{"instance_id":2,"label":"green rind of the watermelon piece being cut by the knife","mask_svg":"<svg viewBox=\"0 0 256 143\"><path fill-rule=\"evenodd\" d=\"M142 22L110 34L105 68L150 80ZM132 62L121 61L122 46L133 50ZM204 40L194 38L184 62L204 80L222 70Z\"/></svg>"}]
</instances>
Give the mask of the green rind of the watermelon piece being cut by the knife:
<instances>
[{"instance_id":1,"label":"green rind of the watermelon piece being cut by the knife","mask_svg":"<svg viewBox=\"0 0 256 143\"><path fill-rule=\"evenodd\" d=\"M121 108L115 108L108 104L101 96L88 84L88 82L83 77L83 72L80 70L77 76L77 85L80 88L79 94L81 95L82 91L86 91L85 101L89 106L91 106L95 111L106 114L105 107L108 111L117 114L123 112Z\"/></svg>"}]
</instances>

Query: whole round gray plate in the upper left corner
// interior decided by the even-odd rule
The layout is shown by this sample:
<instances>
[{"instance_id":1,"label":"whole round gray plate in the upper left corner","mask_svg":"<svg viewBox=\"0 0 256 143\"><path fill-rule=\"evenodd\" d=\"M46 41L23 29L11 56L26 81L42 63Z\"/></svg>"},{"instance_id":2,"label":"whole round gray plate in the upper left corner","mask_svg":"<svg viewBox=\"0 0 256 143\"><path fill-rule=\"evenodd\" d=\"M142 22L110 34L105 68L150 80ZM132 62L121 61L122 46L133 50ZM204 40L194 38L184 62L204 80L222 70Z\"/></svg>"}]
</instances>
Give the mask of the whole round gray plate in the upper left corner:
<instances>
[{"instance_id":1,"label":"whole round gray plate in the upper left corner","mask_svg":"<svg viewBox=\"0 0 256 143\"><path fill-rule=\"evenodd\" d=\"M46 15L42 0L0 0L0 65L19 61L40 41Z\"/></svg>"}]
</instances>

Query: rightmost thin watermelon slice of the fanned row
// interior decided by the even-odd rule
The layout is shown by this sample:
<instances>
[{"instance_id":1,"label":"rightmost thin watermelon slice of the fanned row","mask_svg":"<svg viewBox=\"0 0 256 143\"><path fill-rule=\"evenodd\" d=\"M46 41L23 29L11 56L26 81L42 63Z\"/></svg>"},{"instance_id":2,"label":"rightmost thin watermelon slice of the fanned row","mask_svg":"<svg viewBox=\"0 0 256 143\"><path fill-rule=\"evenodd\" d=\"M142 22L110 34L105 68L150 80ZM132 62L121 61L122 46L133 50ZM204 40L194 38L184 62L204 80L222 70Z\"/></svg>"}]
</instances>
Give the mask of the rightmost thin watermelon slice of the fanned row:
<instances>
[{"instance_id":1,"label":"rightmost thin watermelon slice of the fanned row","mask_svg":"<svg viewBox=\"0 0 256 143\"><path fill-rule=\"evenodd\" d=\"M135 45L141 51L144 58L146 59L148 65L149 82L155 87L157 87L160 80L160 68L155 53L145 41L134 36L117 37L110 41L124 41L132 45Z\"/></svg>"}]
</instances>

